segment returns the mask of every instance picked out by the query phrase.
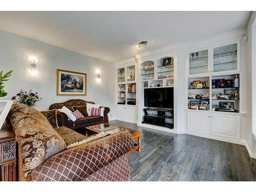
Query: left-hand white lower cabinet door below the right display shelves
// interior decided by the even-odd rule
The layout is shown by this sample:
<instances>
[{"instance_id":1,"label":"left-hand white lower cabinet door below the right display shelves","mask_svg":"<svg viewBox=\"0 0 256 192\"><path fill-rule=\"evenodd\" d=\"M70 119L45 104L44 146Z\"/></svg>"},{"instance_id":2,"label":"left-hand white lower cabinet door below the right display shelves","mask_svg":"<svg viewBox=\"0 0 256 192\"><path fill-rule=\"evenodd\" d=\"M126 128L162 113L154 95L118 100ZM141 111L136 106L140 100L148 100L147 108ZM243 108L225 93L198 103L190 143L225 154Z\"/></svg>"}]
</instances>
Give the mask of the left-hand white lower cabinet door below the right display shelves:
<instances>
[{"instance_id":1,"label":"left-hand white lower cabinet door below the right display shelves","mask_svg":"<svg viewBox=\"0 0 256 192\"><path fill-rule=\"evenodd\" d=\"M210 115L206 113L187 113L188 131L210 134Z\"/></svg>"}]
</instances>

